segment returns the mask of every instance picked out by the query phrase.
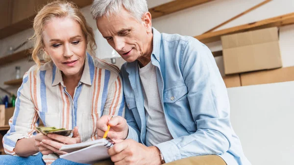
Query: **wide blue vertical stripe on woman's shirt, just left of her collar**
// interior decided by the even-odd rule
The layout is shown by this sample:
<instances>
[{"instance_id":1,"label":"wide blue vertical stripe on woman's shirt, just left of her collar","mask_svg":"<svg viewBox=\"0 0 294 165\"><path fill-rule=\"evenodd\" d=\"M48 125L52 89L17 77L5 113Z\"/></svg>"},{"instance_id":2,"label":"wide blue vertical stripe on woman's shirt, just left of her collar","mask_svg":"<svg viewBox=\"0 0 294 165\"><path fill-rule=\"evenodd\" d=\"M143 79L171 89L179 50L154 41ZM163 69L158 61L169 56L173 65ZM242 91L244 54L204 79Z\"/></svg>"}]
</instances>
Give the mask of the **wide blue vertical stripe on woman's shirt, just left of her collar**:
<instances>
[{"instance_id":1,"label":"wide blue vertical stripe on woman's shirt, just left of her collar","mask_svg":"<svg viewBox=\"0 0 294 165\"><path fill-rule=\"evenodd\" d=\"M41 105L42 105L42 113L40 113L41 119L45 124L45 113L48 111L47 109L47 96L46 96L46 84L45 84L45 74L46 71L40 71L40 96L41 96Z\"/></svg>"}]
</instances>

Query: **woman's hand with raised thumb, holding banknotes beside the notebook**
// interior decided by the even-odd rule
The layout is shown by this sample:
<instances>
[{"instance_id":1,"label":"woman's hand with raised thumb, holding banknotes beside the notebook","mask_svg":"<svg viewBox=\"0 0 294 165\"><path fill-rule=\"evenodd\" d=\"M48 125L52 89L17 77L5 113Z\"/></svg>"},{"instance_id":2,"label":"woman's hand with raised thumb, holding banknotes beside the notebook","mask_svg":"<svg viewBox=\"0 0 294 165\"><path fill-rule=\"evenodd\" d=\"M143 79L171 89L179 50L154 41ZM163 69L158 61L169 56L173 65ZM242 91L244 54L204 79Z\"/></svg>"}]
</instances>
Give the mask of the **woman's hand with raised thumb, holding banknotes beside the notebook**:
<instances>
[{"instance_id":1,"label":"woman's hand with raised thumb, holding banknotes beside the notebook","mask_svg":"<svg viewBox=\"0 0 294 165\"><path fill-rule=\"evenodd\" d=\"M75 143L80 143L81 142L81 138L80 138L80 135L78 133L78 127L74 127L73 129L74 130L73 130L73 137L72 138L65 137L65 136L62 136L62 135L57 135L57 134L48 134L47 136L49 137L49 139L43 139L40 142L40 144L43 147L46 147L47 149L49 149L50 151L52 151L52 152L54 152L54 153L56 153L58 155L67 154L67 152L59 150L59 148L61 148L62 145L64 145L64 144L75 144ZM42 154L43 154L43 152L42 152Z\"/></svg>"}]
</instances>

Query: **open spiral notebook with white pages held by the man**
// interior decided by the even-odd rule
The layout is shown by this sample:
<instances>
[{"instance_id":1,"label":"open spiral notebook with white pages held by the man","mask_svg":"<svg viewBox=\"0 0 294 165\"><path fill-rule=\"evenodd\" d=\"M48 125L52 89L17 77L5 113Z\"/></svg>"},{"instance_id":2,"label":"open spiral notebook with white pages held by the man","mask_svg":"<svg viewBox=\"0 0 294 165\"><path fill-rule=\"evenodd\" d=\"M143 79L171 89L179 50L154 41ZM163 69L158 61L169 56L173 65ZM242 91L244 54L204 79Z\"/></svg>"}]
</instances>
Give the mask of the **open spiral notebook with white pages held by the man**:
<instances>
[{"instance_id":1,"label":"open spiral notebook with white pages held by the man","mask_svg":"<svg viewBox=\"0 0 294 165\"><path fill-rule=\"evenodd\" d=\"M94 164L100 160L107 159L107 149L113 144L106 139L87 141L76 144L63 145L59 150L68 152L60 158L82 164Z\"/></svg>"}]
</instances>

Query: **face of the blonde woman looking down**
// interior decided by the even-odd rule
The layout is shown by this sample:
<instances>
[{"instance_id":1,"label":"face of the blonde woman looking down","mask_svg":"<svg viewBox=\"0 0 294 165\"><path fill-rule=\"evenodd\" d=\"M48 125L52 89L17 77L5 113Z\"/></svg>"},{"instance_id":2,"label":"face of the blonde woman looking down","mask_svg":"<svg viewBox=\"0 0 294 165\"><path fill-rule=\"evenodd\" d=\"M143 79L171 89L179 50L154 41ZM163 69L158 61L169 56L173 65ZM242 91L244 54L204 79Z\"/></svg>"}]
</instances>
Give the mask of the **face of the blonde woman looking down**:
<instances>
[{"instance_id":1,"label":"face of the blonde woman looking down","mask_svg":"<svg viewBox=\"0 0 294 165\"><path fill-rule=\"evenodd\" d=\"M44 50L66 76L82 74L87 41L71 18L54 18L44 26Z\"/></svg>"}]
</instances>

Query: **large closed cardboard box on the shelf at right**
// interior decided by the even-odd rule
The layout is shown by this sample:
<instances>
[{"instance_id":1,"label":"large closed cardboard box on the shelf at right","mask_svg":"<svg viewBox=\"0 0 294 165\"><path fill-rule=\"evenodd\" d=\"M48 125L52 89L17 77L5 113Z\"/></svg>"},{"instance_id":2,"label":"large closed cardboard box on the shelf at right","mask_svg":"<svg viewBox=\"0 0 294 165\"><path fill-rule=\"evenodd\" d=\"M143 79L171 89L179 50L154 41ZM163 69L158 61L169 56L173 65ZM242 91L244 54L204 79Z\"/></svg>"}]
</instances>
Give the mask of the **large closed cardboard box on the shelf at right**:
<instances>
[{"instance_id":1,"label":"large closed cardboard box on the shelf at right","mask_svg":"<svg viewBox=\"0 0 294 165\"><path fill-rule=\"evenodd\" d=\"M282 67L278 28L221 36L225 74Z\"/></svg>"}]
</instances>

